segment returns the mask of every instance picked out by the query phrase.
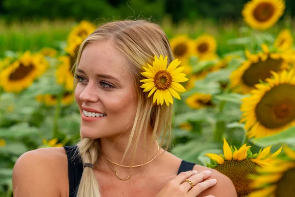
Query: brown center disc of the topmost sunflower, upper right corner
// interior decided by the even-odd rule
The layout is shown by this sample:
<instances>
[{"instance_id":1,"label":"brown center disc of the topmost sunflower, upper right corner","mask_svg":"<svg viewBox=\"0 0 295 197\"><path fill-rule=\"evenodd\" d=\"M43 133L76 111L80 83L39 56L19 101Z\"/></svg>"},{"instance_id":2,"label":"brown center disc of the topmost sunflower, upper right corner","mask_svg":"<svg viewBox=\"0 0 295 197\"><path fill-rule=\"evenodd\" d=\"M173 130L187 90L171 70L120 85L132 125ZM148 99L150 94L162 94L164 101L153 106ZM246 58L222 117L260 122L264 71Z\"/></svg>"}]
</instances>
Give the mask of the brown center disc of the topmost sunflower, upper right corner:
<instances>
[{"instance_id":1,"label":"brown center disc of the topmost sunflower, upper right corner","mask_svg":"<svg viewBox=\"0 0 295 197\"><path fill-rule=\"evenodd\" d=\"M259 4L253 11L254 18L260 22L265 22L274 14L274 7L272 4L263 2Z\"/></svg>"}]
</instances>

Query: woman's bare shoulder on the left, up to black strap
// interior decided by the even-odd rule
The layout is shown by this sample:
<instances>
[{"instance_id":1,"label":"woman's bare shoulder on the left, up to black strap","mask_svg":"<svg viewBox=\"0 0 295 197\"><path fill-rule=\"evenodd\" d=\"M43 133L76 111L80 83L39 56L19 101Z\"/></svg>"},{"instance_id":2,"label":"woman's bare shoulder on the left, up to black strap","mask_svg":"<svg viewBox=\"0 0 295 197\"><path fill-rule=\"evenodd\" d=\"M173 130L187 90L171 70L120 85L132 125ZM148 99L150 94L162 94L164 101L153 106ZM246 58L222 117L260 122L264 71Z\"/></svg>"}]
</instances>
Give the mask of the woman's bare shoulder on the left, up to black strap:
<instances>
[{"instance_id":1,"label":"woman's bare shoulder on the left, up to black strap","mask_svg":"<svg viewBox=\"0 0 295 197\"><path fill-rule=\"evenodd\" d=\"M67 156L63 147L40 148L21 155L12 174L14 197L64 196Z\"/></svg>"}]
</instances>

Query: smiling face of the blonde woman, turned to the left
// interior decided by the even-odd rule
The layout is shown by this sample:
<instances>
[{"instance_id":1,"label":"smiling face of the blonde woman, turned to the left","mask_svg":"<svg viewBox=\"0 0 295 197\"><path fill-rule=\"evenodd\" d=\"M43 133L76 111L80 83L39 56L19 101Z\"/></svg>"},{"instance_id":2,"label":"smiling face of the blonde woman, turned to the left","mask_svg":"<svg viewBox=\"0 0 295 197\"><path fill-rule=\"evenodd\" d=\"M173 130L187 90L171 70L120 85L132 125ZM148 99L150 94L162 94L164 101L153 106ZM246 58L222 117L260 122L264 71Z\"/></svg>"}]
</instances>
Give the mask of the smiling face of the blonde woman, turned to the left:
<instances>
[{"instance_id":1,"label":"smiling face of the blonde woman, turned to the left","mask_svg":"<svg viewBox=\"0 0 295 197\"><path fill-rule=\"evenodd\" d=\"M137 107L133 77L111 45L88 44L77 67L75 99L83 137L112 137L132 128Z\"/></svg>"}]
</instances>

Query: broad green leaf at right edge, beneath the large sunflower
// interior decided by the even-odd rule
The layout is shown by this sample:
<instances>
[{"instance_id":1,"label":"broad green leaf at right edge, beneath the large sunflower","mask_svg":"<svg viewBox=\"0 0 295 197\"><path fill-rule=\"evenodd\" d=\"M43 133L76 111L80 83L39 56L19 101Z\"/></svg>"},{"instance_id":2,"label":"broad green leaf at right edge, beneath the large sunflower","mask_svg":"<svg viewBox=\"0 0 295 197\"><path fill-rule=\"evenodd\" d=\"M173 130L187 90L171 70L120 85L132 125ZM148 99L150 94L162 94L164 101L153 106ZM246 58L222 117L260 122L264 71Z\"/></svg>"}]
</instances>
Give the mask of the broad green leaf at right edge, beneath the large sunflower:
<instances>
[{"instance_id":1,"label":"broad green leaf at right edge, beneath the large sunflower","mask_svg":"<svg viewBox=\"0 0 295 197\"><path fill-rule=\"evenodd\" d=\"M280 133L257 139L251 139L251 142L260 147L266 147L270 145L289 144L295 143L295 127L291 127Z\"/></svg>"}]
</instances>

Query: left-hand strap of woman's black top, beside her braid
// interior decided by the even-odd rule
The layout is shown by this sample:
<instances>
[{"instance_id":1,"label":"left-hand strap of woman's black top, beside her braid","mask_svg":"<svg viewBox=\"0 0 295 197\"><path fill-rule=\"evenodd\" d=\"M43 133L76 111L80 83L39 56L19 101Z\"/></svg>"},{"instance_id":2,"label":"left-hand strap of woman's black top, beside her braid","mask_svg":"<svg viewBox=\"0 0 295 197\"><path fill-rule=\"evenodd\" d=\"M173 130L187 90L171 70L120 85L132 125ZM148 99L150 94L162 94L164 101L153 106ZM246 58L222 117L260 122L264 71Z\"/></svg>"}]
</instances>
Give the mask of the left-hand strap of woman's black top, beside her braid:
<instances>
[{"instance_id":1,"label":"left-hand strap of woman's black top, beside her braid","mask_svg":"<svg viewBox=\"0 0 295 197\"><path fill-rule=\"evenodd\" d=\"M77 145L63 146L68 159L69 197L75 197L83 173L81 157L75 157Z\"/></svg>"}]
</instances>

